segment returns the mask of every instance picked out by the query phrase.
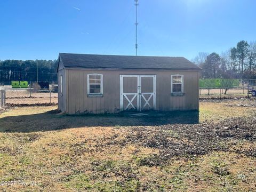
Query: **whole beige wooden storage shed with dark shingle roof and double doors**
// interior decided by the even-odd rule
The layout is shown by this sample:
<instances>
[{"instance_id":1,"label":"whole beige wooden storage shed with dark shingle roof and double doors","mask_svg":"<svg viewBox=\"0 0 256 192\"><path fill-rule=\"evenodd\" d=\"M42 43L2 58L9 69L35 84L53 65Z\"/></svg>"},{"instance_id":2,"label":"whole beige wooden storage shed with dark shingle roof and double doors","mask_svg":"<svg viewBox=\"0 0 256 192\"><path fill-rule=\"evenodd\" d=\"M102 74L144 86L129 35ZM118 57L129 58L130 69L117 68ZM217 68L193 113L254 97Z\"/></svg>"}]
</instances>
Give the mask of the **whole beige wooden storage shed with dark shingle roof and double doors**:
<instances>
[{"instance_id":1,"label":"whole beige wooden storage shed with dark shingle roof and double doors","mask_svg":"<svg viewBox=\"0 0 256 192\"><path fill-rule=\"evenodd\" d=\"M60 53L57 71L66 114L199 108L201 68L183 57Z\"/></svg>"}]
</instances>

